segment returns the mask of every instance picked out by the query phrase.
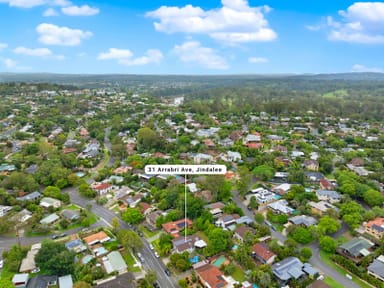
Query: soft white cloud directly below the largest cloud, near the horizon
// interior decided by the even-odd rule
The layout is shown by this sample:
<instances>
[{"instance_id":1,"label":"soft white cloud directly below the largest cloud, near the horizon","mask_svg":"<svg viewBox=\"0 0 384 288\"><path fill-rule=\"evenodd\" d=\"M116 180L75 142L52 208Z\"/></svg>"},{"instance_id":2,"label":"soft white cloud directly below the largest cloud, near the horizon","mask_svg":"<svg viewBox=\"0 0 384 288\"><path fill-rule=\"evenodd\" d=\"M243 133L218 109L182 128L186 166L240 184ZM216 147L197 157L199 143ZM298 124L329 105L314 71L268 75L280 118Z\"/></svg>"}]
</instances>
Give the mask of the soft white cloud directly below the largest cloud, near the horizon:
<instances>
[{"instance_id":1,"label":"soft white cloud directly below the largest cloud, near the horizon","mask_svg":"<svg viewBox=\"0 0 384 288\"><path fill-rule=\"evenodd\" d=\"M176 45L172 50L182 62L198 64L207 69L228 69L229 65L215 50L203 47L197 41Z\"/></svg>"}]
</instances>

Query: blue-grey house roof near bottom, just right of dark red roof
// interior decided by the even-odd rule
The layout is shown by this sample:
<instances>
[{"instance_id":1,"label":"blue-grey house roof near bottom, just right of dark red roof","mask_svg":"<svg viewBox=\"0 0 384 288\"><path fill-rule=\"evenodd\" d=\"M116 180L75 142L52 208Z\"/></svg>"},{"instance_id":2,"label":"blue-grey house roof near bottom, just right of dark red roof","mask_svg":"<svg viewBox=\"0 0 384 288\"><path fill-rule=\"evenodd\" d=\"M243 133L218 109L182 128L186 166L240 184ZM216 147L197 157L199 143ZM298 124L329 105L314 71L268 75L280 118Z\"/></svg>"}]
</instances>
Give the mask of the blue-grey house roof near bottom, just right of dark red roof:
<instances>
[{"instance_id":1,"label":"blue-grey house roof near bottom, just right of dark red roof","mask_svg":"<svg viewBox=\"0 0 384 288\"><path fill-rule=\"evenodd\" d=\"M273 274L282 281L291 278L298 279L304 272L302 271L303 263L296 257L288 257L284 260L272 265Z\"/></svg>"}]
</instances>

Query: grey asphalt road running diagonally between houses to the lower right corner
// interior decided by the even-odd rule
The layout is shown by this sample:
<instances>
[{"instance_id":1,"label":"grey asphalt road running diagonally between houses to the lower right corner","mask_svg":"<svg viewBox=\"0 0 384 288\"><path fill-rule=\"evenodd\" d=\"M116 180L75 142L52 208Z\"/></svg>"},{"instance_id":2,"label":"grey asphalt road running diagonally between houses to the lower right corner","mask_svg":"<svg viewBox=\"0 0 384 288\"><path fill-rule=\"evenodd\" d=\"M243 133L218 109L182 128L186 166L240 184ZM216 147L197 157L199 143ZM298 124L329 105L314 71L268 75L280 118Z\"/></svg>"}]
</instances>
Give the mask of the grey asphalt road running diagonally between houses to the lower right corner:
<instances>
[{"instance_id":1,"label":"grey asphalt road running diagonally between houses to the lower right corner","mask_svg":"<svg viewBox=\"0 0 384 288\"><path fill-rule=\"evenodd\" d=\"M253 219L254 218L253 212L249 211L247 209L247 207L244 205L244 203L243 203L243 201L242 201L242 199L240 197L241 196L239 196L237 191L234 191L233 197L232 197L233 202L235 202L236 205L243 210L243 212L245 213L246 216L248 216L251 219ZM345 232L344 229L347 229L347 227L343 226L342 229L340 229L337 232L337 234L341 235L342 233L344 233ZM272 235L272 237L274 239L277 239L282 244L287 239L287 237L285 237L283 234L281 234L278 231L274 231L272 229L271 229L271 235ZM312 243L308 247L311 248L311 250L312 250L312 258L310 259L309 262L314 267L318 268L322 273L324 273L325 275L331 277L332 279L334 279L335 281L337 281L339 284L343 285L344 287L348 287L348 288L359 288L360 287L355 282L353 282L353 281L349 280L348 278L346 278L345 275L340 274L338 271L334 270L332 267L330 267L327 264L325 264L323 262L323 260L321 260L321 258L320 258L320 249L319 249L319 245L318 245L317 242Z\"/></svg>"}]
</instances>

